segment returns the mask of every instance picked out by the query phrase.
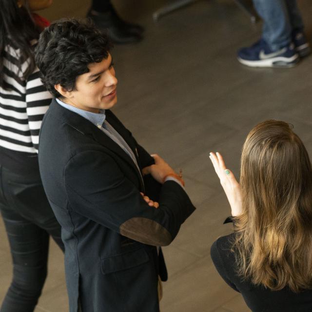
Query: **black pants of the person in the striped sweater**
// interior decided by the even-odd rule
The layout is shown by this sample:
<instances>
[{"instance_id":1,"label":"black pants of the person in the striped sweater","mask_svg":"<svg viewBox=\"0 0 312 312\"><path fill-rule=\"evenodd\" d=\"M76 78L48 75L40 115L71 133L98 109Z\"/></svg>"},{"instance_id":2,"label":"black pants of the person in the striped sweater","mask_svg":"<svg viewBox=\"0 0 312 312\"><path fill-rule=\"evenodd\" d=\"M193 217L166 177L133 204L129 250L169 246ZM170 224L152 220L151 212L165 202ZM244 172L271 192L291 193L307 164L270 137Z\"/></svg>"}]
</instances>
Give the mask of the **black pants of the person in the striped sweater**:
<instances>
[{"instance_id":1,"label":"black pants of the person in the striped sweater","mask_svg":"<svg viewBox=\"0 0 312 312\"><path fill-rule=\"evenodd\" d=\"M0 166L0 210L13 260L0 312L33 312L47 274L50 235L64 251L39 172L19 175Z\"/></svg>"}]
</instances>

